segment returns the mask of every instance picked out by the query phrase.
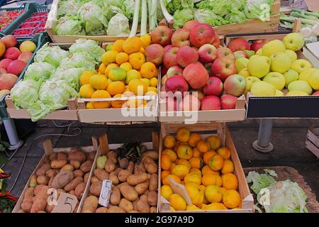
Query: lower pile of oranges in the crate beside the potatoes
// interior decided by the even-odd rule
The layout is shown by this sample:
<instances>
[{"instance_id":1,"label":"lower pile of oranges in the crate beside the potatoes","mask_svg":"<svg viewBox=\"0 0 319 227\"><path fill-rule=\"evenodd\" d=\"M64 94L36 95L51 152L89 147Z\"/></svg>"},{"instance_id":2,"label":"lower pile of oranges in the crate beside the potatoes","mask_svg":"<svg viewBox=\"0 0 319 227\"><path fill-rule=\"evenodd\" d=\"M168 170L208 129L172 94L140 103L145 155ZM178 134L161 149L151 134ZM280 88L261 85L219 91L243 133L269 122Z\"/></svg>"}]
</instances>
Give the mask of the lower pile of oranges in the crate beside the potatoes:
<instances>
[{"instance_id":1,"label":"lower pile of oranges in the crate beside the potatoes","mask_svg":"<svg viewBox=\"0 0 319 227\"><path fill-rule=\"evenodd\" d=\"M237 192L238 179L230 150L220 147L220 138L211 135L203 140L188 128L179 128L176 137L167 135L163 140L160 165L161 194L171 205L171 210L223 210L240 209L241 198ZM184 184L192 205L170 187L171 180Z\"/></svg>"}]
</instances>

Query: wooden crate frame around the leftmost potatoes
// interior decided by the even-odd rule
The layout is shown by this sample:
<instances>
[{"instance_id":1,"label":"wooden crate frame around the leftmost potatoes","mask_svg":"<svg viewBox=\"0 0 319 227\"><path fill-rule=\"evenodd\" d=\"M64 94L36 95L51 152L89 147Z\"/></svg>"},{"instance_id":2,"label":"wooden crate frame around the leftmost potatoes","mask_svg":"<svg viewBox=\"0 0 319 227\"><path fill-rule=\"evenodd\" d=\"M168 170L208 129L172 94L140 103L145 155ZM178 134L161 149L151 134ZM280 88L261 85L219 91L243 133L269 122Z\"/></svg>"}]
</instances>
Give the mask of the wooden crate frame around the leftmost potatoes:
<instances>
[{"instance_id":1,"label":"wooden crate frame around the leftmost potatoes","mask_svg":"<svg viewBox=\"0 0 319 227\"><path fill-rule=\"evenodd\" d=\"M35 172L40 168L40 166L43 165L43 163L45 162L45 158L52 153L60 153L60 152L69 153L69 151L71 150L71 148L52 148L51 140L45 140L45 142L43 143L43 148L45 150L45 154L40 159L38 165L35 167L35 170L30 175L28 182L26 183L26 186L24 187L23 192L21 193L21 195L18 199L16 206L14 206L12 213L17 213L21 209L21 204L23 202L24 194L26 193L26 190L29 188L30 179L31 179L32 175L35 175ZM98 140L96 140L96 138L92 137L92 145L86 146L86 147L81 147L81 150L84 151L85 153L90 153L91 151L96 150L96 153L99 153L100 148L99 148ZM96 160L96 157L94 158L94 160ZM81 199L81 201L82 201L82 199ZM81 203L81 201L79 201L79 204ZM77 212L77 213L78 213L78 211L79 211L79 208L77 209L77 211L74 210L74 212Z\"/></svg>"}]
</instances>

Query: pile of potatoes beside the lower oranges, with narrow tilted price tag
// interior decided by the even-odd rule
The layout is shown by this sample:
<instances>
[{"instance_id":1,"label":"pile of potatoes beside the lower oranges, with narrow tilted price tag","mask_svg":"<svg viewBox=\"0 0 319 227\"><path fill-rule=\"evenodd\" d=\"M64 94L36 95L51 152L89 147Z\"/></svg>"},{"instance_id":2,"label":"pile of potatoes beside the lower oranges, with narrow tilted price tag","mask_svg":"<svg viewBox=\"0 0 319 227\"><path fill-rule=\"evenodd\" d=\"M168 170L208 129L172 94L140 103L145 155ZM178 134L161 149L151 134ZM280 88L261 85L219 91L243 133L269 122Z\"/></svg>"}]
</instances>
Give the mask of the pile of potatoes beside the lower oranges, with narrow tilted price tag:
<instances>
[{"instance_id":1,"label":"pile of potatoes beside the lower oranges, with narrow tilted price tag","mask_svg":"<svg viewBox=\"0 0 319 227\"><path fill-rule=\"evenodd\" d=\"M82 213L155 213L157 211L158 153L146 151L140 162L119 158L115 151L97 158ZM99 205L103 179L112 181L108 207ZM99 207L100 206L100 207Z\"/></svg>"}]
</instances>

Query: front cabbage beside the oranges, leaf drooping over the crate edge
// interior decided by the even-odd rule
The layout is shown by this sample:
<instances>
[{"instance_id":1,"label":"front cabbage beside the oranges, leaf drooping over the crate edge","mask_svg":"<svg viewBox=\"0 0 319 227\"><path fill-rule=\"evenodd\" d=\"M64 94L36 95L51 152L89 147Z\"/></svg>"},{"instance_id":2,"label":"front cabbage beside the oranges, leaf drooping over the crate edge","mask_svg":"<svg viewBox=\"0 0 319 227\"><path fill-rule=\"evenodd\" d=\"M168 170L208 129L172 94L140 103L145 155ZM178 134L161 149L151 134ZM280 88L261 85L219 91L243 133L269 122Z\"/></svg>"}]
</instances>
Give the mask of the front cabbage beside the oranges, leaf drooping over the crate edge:
<instances>
[{"instance_id":1,"label":"front cabbage beside the oranges, leaf drooping over the crate edge","mask_svg":"<svg viewBox=\"0 0 319 227\"><path fill-rule=\"evenodd\" d=\"M28 108L32 121L38 121L52 111L65 108L67 101L78 96L78 93L65 80L47 80L40 87L38 96L38 101Z\"/></svg>"}]
</instances>

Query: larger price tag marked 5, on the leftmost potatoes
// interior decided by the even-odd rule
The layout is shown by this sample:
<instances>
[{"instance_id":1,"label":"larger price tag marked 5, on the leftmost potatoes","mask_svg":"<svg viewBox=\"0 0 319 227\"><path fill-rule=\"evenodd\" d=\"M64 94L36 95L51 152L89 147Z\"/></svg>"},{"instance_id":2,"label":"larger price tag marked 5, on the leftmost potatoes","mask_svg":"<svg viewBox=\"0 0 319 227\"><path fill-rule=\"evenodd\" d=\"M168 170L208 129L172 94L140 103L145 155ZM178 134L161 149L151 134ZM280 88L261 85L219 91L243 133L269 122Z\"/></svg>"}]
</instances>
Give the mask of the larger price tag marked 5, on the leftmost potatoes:
<instances>
[{"instance_id":1,"label":"larger price tag marked 5, on the leftmost potatoes","mask_svg":"<svg viewBox=\"0 0 319 227\"><path fill-rule=\"evenodd\" d=\"M77 206L77 197L72 194L61 193L57 199L57 205L52 213L73 213L75 206Z\"/></svg>"}]
</instances>

